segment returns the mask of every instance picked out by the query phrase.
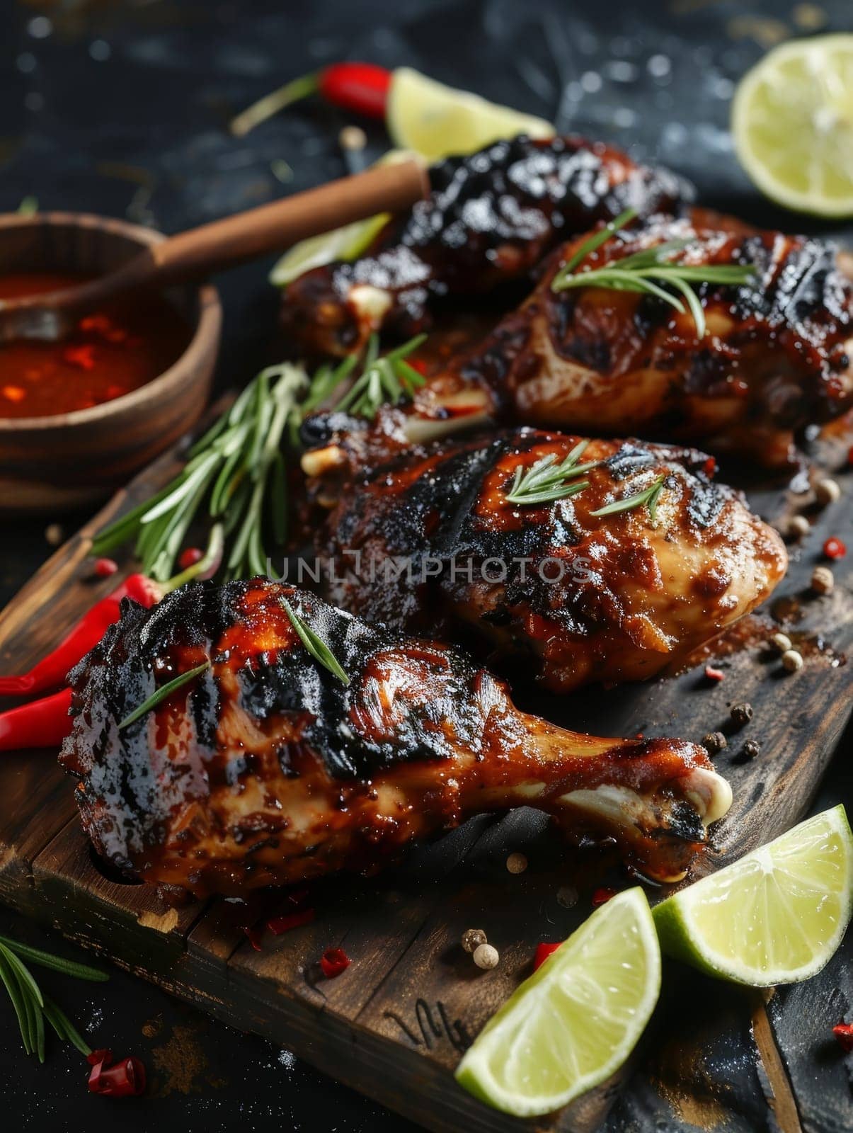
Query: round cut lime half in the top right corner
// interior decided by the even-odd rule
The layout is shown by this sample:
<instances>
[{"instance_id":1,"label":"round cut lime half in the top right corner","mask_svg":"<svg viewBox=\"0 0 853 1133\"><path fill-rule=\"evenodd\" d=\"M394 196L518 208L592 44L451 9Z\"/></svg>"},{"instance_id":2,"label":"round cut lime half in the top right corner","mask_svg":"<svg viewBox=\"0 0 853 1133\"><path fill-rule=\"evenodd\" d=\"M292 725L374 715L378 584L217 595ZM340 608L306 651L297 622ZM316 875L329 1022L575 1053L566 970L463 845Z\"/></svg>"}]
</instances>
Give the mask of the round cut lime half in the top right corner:
<instances>
[{"instance_id":1,"label":"round cut lime half in the top right corner","mask_svg":"<svg viewBox=\"0 0 853 1133\"><path fill-rule=\"evenodd\" d=\"M765 56L735 92L732 134L768 197L853 215L853 35L794 40Z\"/></svg>"}]
</instances>

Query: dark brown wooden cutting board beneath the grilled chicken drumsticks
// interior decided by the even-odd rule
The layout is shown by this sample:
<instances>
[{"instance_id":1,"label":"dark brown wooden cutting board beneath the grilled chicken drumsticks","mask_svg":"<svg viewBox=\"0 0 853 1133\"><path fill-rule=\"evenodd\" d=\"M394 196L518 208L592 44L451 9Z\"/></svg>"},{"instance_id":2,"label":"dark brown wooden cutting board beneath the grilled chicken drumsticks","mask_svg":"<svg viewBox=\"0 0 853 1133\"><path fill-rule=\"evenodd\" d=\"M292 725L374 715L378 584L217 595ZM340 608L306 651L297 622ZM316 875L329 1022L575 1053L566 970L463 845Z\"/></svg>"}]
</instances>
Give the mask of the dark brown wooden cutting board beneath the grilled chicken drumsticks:
<instances>
[{"instance_id":1,"label":"dark brown wooden cutting board beneath the grilled chicken drumsticks","mask_svg":"<svg viewBox=\"0 0 853 1133\"><path fill-rule=\"evenodd\" d=\"M847 443L841 437L821 443L825 467L846 463ZM0 615L0 671L28 668L116 585L114 578L91 579L88 537L162 485L177 459L171 453L139 476L10 603ZM709 648L708 658L725 672L722 682L708 681L698 659L680 675L609 692L519 698L560 724L605 735L700 740L717 729L727 732L730 747L716 765L732 782L734 806L715 830L715 851L700 872L732 861L804 813L851 715L853 665L844 655L853 646L853 474L842 471L838 479L845 495L825 510L784 486L748 492L766 519L782 525L792 510L804 509L814 526L802 547L791 547L788 577L769 610ZM834 564L833 595L818 597L809 579L830 535L852 551ZM805 664L795 674L785 673L765 644L777 628L771 613L783 617L803 649ZM754 718L734 731L728 706L739 700L752 704ZM752 760L742 758L747 739L760 743ZM273 1039L436 1131L590 1133L624 1089L623 1073L568 1110L520 1122L480 1105L452 1077L461 1050L529 973L535 945L569 935L589 914L594 886L629 884L624 875L608 875L597 852L566 852L541 816L522 810L477 818L413 851L378 879L316 885L314 922L278 937L266 931L256 951L245 926L292 909L285 893L264 895L250 909L220 900L168 909L147 887L121 881L94 859L71 795L54 752L0 757L0 900L217 1017ZM529 859L523 874L505 868L513 850ZM480 972L460 947L467 928L485 929L498 948L494 971ZM339 945L351 966L336 980L317 980L321 953ZM700 979L672 976L686 981L688 996L691 980ZM796 1109L764 1000L744 999L743 1007L747 1017L752 1013L776 1122L783 1133L795 1133ZM659 1010L658 1022L666 1010ZM652 1023L646 1041L654 1042L655 1033ZM701 1033L685 1026L680 1047L688 1062L691 1051L699 1057ZM838 1100L842 1107L848 1102ZM853 1113L850 1122L843 1115L838 1122L839 1128L853 1126Z\"/></svg>"}]
</instances>

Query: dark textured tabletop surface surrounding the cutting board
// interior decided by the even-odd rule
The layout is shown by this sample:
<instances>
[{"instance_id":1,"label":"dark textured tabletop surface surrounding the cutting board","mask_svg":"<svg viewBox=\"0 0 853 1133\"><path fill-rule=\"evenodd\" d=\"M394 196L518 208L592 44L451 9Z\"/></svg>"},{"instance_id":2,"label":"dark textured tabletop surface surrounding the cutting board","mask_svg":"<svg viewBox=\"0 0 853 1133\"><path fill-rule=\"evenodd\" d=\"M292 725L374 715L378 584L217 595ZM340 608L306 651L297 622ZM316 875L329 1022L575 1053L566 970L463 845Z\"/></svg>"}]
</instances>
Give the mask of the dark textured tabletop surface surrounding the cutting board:
<instances>
[{"instance_id":1,"label":"dark textured tabletop surface surrounding the cutting board","mask_svg":"<svg viewBox=\"0 0 853 1133\"><path fill-rule=\"evenodd\" d=\"M851 0L0 0L0 211L32 195L42 208L127 216L174 232L340 176L347 167L336 138L348 119L318 102L293 108L245 139L230 137L225 123L284 79L352 58L416 66L552 117L561 127L616 142L638 157L664 161L693 178L709 204L768 225L821 231L754 194L734 160L726 125L734 82L766 48L791 34L842 29L853 29ZM385 145L373 129L374 152ZM844 237L838 229L835 235ZM225 303L221 385L244 382L275 358L276 300L265 282L267 267L255 264L219 281ZM0 535L0 605L46 557L50 518L71 531L85 517L7 526ZM847 739L843 750L850 752ZM842 763L836 760L822 806L851 799L850 764ZM0 931L46 940L5 912ZM847 945L821 980L824 989L846 988L848 998L850 952ZM155 1123L187 1131L413 1128L287 1053L229 1031L121 972L109 985L52 978L44 985L93 1045L145 1059L151 1096L120 1104L87 1097L85 1066L69 1048L52 1045L41 1068L26 1062L11 1011L0 1002L8 1127L97 1133L120 1122L128 1133ZM718 990L723 1008L731 995ZM821 1066L837 1054L827 1045L827 1020L810 1011L816 997L817 981L783 994L775 1011L779 1032L788 1036L786 1057L809 1074L813 1066L819 1093ZM698 1025L696 1008L690 1005L684 1025ZM773 1130L764 1105L753 1108L754 1096L739 1097L733 1084L736 1067L754 1058L749 1034L724 1026L715 1041L732 1067L732 1084L720 1087L728 1090L727 1106L742 1116L752 1113L747 1119L757 1131ZM707 1082L698 1089L701 1104L673 1096L663 1117L659 1110L629 1116L617 1106L608 1133L725 1122L725 1111L714 1108L718 1090ZM760 1091L758 1098L762 1102ZM807 1105L801 1116L805 1128L824 1133L818 1110Z\"/></svg>"}]
</instances>

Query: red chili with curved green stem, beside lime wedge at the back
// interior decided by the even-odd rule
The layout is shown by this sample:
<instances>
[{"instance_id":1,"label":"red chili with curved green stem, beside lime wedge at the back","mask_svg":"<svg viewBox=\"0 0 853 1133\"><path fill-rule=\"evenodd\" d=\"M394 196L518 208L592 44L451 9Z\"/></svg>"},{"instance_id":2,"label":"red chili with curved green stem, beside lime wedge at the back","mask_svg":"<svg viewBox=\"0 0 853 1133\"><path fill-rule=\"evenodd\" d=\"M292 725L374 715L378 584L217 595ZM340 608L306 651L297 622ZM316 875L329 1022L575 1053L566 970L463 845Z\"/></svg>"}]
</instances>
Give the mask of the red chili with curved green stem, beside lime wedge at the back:
<instances>
[{"instance_id":1,"label":"red chili with curved green stem, beside lime wedge at the back","mask_svg":"<svg viewBox=\"0 0 853 1133\"><path fill-rule=\"evenodd\" d=\"M231 122L238 137L310 94L367 118L384 118L393 73L376 63L331 63L312 75L301 75L253 103Z\"/></svg>"}]
</instances>

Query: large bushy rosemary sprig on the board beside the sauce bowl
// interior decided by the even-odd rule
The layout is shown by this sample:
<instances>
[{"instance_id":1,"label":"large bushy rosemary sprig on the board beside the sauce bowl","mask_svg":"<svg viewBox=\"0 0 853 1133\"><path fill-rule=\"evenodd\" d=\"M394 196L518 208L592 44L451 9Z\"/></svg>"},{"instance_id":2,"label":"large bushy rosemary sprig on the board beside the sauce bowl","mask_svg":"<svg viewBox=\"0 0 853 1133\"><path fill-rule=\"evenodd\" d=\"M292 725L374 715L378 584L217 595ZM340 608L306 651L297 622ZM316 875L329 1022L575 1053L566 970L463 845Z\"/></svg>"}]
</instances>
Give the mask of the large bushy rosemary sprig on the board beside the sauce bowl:
<instances>
[{"instance_id":1,"label":"large bushy rosemary sprig on the board beside the sauce bowl","mask_svg":"<svg viewBox=\"0 0 853 1133\"><path fill-rule=\"evenodd\" d=\"M287 537L284 449L298 448L302 418L327 403L349 378L352 384L330 409L369 419L381 406L411 397L424 378L406 359L424 338L381 356L373 335L364 355L323 366L310 381L302 366L289 363L262 370L193 445L182 471L99 533L91 554L105 555L135 539L143 571L174 585L202 576L203 566L210 573L219 560L224 560L227 578L266 573L267 538L280 545ZM221 538L211 540L217 551L210 562L174 577L184 540L199 518L214 525L214 536L221 525Z\"/></svg>"}]
</instances>

